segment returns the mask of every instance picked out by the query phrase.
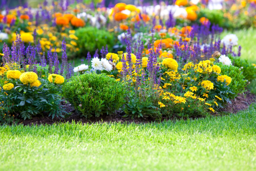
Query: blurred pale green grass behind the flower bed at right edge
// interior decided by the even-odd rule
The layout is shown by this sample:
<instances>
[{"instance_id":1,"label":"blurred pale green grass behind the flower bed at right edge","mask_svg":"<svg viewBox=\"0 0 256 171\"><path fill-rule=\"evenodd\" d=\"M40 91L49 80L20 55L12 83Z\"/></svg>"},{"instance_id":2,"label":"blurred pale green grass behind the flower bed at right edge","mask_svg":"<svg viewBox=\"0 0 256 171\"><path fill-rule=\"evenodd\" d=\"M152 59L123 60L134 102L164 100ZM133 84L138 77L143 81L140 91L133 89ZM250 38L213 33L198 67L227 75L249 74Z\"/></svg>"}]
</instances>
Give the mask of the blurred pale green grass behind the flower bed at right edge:
<instances>
[{"instance_id":1,"label":"blurred pale green grass behind the flower bed at right edge","mask_svg":"<svg viewBox=\"0 0 256 171\"><path fill-rule=\"evenodd\" d=\"M241 58L248 59L251 63L256 63L256 29L241 29L230 32L223 32L221 34L221 38L223 38L227 34L236 34L238 38L238 45L241 45ZM236 47L237 50L237 47Z\"/></svg>"}]
</instances>

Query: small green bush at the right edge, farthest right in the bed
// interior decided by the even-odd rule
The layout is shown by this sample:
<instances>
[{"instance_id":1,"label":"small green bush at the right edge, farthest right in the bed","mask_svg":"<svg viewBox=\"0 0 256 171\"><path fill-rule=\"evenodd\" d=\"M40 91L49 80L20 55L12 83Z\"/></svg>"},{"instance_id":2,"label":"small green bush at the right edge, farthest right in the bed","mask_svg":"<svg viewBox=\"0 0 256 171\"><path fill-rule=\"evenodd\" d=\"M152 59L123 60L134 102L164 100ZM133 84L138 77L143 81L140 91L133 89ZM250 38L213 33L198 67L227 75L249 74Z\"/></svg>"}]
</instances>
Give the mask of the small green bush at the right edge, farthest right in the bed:
<instances>
[{"instance_id":1,"label":"small green bush at the right edge, farthest right in the bed","mask_svg":"<svg viewBox=\"0 0 256 171\"><path fill-rule=\"evenodd\" d=\"M240 57L231 57L229 56L232 64L241 69L245 79L248 81L252 81L256 79L256 68L246 59L241 59Z\"/></svg>"}]
</instances>

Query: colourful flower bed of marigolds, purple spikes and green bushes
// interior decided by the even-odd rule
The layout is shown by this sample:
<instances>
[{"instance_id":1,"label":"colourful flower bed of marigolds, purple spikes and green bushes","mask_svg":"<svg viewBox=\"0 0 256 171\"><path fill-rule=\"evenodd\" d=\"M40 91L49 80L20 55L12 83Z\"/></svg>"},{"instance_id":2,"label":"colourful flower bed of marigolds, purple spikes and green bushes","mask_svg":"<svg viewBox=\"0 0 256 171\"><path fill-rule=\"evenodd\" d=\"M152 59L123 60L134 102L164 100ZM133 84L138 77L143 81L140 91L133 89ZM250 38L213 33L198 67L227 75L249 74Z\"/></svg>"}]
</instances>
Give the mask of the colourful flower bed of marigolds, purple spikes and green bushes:
<instances>
[{"instance_id":1,"label":"colourful flower bed of marigolds, purple spikes and green bushes","mask_svg":"<svg viewBox=\"0 0 256 171\"><path fill-rule=\"evenodd\" d=\"M3 18L5 32L21 30L15 37L10 32L11 48L8 41L2 45L0 123L45 114L52 119L72 118L74 112L63 104L88 119L204 117L223 113L256 78L255 64L240 58L236 35L221 39L223 29L211 19L198 19L200 8L187 1L163 5L167 17L163 12L144 14L143 8L124 3L99 8L94 14L100 26L89 24L89 14L78 12L93 12L82 5L70 8L71 13L58 3L43 4L35 20L32 13L18 20L13 15L10 23L8 15ZM174 8L175 13L185 10L186 17L172 14ZM39 11L48 18L36 19ZM114 30L106 29L103 14ZM44 25L47 21L51 26ZM69 62L81 54L86 58L79 64Z\"/></svg>"}]
</instances>

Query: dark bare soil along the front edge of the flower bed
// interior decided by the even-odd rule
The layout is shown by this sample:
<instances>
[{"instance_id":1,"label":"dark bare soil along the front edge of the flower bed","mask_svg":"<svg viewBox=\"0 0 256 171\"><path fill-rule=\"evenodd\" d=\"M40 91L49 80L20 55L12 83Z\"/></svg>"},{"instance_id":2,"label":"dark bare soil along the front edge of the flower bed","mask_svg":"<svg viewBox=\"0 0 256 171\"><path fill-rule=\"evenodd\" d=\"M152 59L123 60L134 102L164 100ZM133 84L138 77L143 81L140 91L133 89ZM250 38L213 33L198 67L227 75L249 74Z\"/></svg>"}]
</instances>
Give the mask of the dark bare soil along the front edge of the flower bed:
<instances>
[{"instance_id":1,"label":"dark bare soil along the front edge of the flower bed","mask_svg":"<svg viewBox=\"0 0 256 171\"><path fill-rule=\"evenodd\" d=\"M239 95L235 100L232 100L232 104L227 104L225 108L221 109L218 113L213 115L219 115L223 113L237 113L240 110L247 109L253 102L256 101L256 95L253 95L249 92L246 92L244 95ZM81 117L75 109L69 103L63 103L63 107L65 108L67 113L71 113L68 117L65 118L54 118L48 117L47 114L40 117L34 117L30 120L20 120L20 124L24 125L35 125L35 124L53 124L53 123L65 123L65 122L81 122L81 123L97 123L97 122L121 122L121 123L151 123L156 121L153 118L123 118L125 113L121 111L115 111L115 114L111 116L100 116L100 117L90 117L87 119L85 117ZM166 118L162 118L163 121Z\"/></svg>"}]
</instances>

